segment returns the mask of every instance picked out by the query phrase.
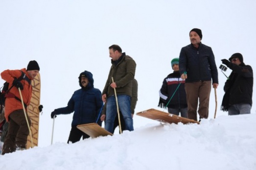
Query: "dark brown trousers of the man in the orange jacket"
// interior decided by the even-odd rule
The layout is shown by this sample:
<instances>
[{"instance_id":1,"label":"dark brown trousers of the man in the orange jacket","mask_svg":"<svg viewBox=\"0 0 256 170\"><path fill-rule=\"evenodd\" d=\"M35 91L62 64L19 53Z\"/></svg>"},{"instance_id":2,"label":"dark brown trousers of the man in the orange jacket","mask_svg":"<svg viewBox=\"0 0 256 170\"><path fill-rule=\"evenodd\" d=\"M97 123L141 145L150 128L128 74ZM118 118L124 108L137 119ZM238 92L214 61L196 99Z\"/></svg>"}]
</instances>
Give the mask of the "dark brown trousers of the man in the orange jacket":
<instances>
[{"instance_id":1,"label":"dark brown trousers of the man in the orange jacket","mask_svg":"<svg viewBox=\"0 0 256 170\"><path fill-rule=\"evenodd\" d=\"M27 119L30 127L31 121L28 115ZM16 149L25 149L28 134L29 130L23 109L12 112L9 115L9 127L3 143L2 154L14 152Z\"/></svg>"}]
</instances>

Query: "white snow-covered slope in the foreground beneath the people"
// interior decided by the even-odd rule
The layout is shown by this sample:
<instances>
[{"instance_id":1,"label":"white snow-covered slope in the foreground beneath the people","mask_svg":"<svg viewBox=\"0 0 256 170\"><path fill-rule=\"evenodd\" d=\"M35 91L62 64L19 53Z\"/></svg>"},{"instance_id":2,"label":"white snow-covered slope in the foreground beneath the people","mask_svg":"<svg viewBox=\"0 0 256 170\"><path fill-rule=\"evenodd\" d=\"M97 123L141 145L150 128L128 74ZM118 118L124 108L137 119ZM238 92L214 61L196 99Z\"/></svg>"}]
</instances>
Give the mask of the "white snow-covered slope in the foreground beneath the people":
<instances>
[{"instance_id":1,"label":"white snow-covered slope in the foreground beneath the people","mask_svg":"<svg viewBox=\"0 0 256 170\"><path fill-rule=\"evenodd\" d=\"M157 121L113 136L0 156L1 170L255 170L256 114Z\"/></svg>"}]
</instances>

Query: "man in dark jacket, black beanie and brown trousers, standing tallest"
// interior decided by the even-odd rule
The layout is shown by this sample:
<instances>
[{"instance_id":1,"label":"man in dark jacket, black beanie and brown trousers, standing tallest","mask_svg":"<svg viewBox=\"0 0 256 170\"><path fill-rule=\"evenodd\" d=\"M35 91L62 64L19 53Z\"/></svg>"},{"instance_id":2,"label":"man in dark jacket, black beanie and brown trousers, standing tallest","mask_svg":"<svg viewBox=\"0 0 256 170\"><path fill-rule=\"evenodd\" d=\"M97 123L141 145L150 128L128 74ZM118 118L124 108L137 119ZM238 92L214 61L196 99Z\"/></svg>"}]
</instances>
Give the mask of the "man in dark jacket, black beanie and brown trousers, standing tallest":
<instances>
[{"instance_id":1,"label":"man in dark jacket, black beanie and brown trousers, standing tallest","mask_svg":"<svg viewBox=\"0 0 256 170\"><path fill-rule=\"evenodd\" d=\"M208 118L211 83L218 87L218 71L211 48L201 43L202 31L194 28L189 32L191 44L180 53L181 78L186 79L187 117L197 121L199 98L199 118ZM211 82L212 79L212 82Z\"/></svg>"}]
</instances>

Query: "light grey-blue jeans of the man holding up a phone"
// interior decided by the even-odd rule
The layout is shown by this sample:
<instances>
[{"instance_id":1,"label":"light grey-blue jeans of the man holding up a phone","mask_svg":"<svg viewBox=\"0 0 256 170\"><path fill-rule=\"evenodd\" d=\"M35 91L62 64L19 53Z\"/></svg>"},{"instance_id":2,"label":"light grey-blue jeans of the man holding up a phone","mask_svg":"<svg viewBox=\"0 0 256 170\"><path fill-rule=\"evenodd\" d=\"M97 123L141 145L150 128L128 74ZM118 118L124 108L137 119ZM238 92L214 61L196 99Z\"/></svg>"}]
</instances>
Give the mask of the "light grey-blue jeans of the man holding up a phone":
<instances>
[{"instance_id":1,"label":"light grey-blue jeans of the man holding up a phone","mask_svg":"<svg viewBox=\"0 0 256 170\"><path fill-rule=\"evenodd\" d=\"M251 105L240 103L240 104L233 104L229 107L228 112L229 115L237 115L237 114L250 114L251 113Z\"/></svg>"}]
</instances>

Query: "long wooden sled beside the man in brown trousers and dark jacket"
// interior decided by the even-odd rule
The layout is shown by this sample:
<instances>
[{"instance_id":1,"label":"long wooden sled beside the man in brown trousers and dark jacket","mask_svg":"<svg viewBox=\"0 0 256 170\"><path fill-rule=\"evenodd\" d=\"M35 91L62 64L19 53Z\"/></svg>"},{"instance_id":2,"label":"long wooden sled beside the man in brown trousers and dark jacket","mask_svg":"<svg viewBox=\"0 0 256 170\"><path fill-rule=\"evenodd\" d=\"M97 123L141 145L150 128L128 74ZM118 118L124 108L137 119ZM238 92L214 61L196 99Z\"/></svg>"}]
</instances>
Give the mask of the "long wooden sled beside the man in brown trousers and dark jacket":
<instances>
[{"instance_id":1,"label":"long wooden sled beside the man in brown trousers and dark jacket","mask_svg":"<svg viewBox=\"0 0 256 170\"><path fill-rule=\"evenodd\" d=\"M181 116L177 116L171 113L166 113L166 112L162 112L156 109L149 109L146 111L142 111L139 113L136 113L139 116L142 117L146 117L149 119L153 119L153 120L157 120L163 123L175 123L178 124L179 122L183 123L183 124L187 124L187 123L197 123L200 124L198 121L192 120L192 119L188 119L188 118L184 118Z\"/></svg>"}]
</instances>

